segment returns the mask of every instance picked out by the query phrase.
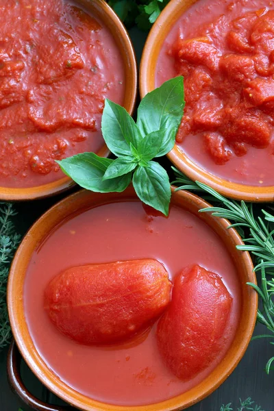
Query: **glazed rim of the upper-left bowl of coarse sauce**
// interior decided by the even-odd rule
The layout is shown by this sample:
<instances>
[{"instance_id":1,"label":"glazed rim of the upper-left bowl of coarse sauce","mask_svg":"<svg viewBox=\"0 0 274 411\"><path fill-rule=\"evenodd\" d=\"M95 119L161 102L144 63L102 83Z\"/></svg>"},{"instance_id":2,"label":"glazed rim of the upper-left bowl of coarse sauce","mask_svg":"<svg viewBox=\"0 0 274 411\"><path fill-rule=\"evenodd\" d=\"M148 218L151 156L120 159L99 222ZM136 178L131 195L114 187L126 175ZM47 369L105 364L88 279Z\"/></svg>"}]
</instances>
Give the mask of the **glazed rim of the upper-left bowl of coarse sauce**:
<instances>
[{"instance_id":1,"label":"glazed rim of the upper-left bowl of coarse sauce","mask_svg":"<svg viewBox=\"0 0 274 411\"><path fill-rule=\"evenodd\" d=\"M102 15L105 16L103 18L103 23L110 32L110 23L114 23L116 26L117 32L121 34L120 41L123 42L123 50L127 55L127 63L124 61L123 66L125 68L125 77L127 77L128 72L131 71L131 78L132 78L132 87L130 88L131 91L129 94L129 102L127 104L126 110L129 112L130 115L134 112L134 107L136 103L137 97L137 62L136 62L136 55L134 51L134 47L132 45L132 40L125 29L125 26L117 16L117 14L110 8L110 5L106 3L104 0L92 0L91 3L95 3L92 7L101 9ZM118 45L118 44L117 44ZM119 46L119 45L118 45ZM121 51L121 46L119 46L119 51ZM129 91L129 90L127 90ZM97 151L99 155L102 157L108 157L110 155L110 150L108 149L105 142L103 146ZM1 201L28 201L34 199L43 199L45 197L51 197L53 195L60 194L69 188L75 186L75 182L70 177L63 176L59 179L47 183L47 184L40 184L38 186L32 187L25 187L25 188L12 188L12 187L3 187L0 186L0 200Z\"/></svg>"}]
</instances>

